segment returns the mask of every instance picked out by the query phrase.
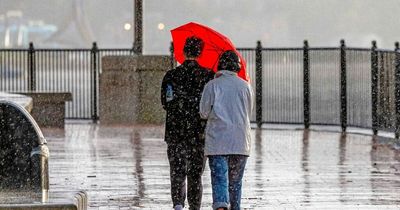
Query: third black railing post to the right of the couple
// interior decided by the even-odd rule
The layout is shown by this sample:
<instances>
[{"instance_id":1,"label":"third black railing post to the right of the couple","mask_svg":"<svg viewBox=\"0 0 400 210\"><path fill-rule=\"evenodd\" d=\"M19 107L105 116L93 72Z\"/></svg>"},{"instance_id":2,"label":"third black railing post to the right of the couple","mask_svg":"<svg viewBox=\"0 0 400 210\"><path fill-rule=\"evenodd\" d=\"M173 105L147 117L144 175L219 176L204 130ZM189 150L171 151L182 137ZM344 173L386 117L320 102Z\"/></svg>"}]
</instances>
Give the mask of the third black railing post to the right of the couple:
<instances>
[{"instance_id":1,"label":"third black railing post to the right of the couple","mask_svg":"<svg viewBox=\"0 0 400 210\"><path fill-rule=\"evenodd\" d=\"M342 132L347 127L347 80L346 80L346 45L340 40L340 124Z\"/></svg>"}]
</instances>

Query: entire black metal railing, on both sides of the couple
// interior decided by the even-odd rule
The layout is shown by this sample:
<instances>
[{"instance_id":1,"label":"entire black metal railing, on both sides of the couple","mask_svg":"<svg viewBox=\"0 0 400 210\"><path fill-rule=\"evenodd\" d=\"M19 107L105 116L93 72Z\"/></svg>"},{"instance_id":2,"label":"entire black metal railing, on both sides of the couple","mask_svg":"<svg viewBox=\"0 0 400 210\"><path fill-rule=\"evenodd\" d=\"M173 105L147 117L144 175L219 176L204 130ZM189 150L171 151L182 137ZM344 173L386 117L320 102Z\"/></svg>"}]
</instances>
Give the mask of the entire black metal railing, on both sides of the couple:
<instances>
[{"instance_id":1,"label":"entire black metal railing, on both sides of the couple","mask_svg":"<svg viewBox=\"0 0 400 210\"><path fill-rule=\"evenodd\" d=\"M338 125L400 135L400 50L348 47L238 48L255 90L251 116L263 123ZM66 117L98 119L98 77L105 55L130 49L0 49L0 90L68 91ZM171 67L176 65L171 47Z\"/></svg>"}]
</instances>

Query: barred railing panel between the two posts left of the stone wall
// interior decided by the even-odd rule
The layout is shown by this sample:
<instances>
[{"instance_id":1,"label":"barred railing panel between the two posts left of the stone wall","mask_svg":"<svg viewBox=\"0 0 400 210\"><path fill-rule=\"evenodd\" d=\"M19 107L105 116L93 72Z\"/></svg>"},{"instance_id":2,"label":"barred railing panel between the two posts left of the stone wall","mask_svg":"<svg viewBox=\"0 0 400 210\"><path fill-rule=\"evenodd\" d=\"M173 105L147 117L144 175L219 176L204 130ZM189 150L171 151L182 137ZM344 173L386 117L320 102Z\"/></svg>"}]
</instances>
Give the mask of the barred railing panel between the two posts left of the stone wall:
<instances>
[{"instance_id":1,"label":"barred railing panel between the two posts left of the stone wall","mask_svg":"<svg viewBox=\"0 0 400 210\"><path fill-rule=\"evenodd\" d=\"M91 118L90 50L35 50L36 90L71 92L66 118Z\"/></svg>"}]
</instances>

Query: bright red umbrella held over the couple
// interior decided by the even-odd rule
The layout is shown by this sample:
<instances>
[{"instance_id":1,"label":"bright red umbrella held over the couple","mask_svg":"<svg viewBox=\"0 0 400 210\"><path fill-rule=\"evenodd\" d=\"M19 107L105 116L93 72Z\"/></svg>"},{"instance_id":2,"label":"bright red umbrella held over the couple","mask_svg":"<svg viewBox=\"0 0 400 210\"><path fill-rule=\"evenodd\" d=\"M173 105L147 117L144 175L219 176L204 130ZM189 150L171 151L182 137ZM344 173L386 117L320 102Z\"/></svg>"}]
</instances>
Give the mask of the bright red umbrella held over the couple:
<instances>
[{"instance_id":1,"label":"bright red umbrella held over the couple","mask_svg":"<svg viewBox=\"0 0 400 210\"><path fill-rule=\"evenodd\" d=\"M246 74L246 61L236 50L232 42L223 34L207 26L190 22L171 30L171 35L174 44L175 59L179 63L185 61L183 46L185 45L186 38L196 36L204 41L203 52L197 60L201 66L217 71L219 56L226 50L234 50L239 55L242 65L238 76L246 81L249 80Z\"/></svg>"}]
</instances>

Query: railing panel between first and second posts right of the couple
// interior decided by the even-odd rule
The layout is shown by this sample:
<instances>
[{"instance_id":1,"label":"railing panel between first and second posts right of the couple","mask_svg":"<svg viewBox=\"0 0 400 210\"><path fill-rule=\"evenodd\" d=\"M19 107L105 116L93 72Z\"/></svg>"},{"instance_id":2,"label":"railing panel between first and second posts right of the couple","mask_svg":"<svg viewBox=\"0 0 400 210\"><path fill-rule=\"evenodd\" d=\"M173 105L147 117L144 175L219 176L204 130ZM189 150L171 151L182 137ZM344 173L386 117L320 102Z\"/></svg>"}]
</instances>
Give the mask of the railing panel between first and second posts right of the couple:
<instances>
[{"instance_id":1,"label":"railing panel between first and second posts right of the couple","mask_svg":"<svg viewBox=\"0 0 400 210\"><path fill-rule=\"evenodd\" d=\"M303 123L303 49L263 50L263 122Z\"/></svg>"}]
</instances>

